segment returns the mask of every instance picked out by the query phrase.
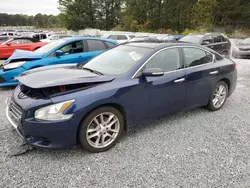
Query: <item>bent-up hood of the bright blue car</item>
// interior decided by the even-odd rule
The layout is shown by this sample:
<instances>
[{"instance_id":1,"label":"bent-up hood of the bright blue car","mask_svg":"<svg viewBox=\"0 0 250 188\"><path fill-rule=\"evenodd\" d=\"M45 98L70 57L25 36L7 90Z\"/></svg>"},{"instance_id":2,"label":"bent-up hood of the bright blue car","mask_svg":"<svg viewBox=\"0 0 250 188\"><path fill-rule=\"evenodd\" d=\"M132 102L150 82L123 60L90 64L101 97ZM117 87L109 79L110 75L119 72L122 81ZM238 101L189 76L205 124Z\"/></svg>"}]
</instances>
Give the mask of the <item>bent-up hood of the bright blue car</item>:
<instances>
[{"instance_id":1,"label":"bent-up hood of the bright blue car","mask_svg":"<svg viewBox=\"0 0 250 188\"><path fill-rule=\"evenodd\" d=\"M43 54L39 54L32 51L27 50L15 50L14 53L5 61L6 63L14 62L14 61L25 61L25 60L34 60L41 59Z\"/></svg>"}]
</instances>

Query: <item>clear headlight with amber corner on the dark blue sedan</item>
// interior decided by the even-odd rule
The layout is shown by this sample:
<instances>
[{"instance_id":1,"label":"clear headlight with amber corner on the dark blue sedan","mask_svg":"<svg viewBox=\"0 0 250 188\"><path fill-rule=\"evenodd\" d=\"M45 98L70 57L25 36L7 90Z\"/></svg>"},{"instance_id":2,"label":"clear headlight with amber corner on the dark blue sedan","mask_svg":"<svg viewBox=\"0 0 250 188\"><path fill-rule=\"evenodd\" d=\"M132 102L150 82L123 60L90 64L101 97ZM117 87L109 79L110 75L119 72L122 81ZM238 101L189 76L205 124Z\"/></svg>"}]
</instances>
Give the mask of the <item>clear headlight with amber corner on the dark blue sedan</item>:
<instances>
[{"instance_id":1,"label":"clear headlight with amber corner on the dark blue sedan","mask_svg":"<svg viewBox=\"0 0 250 188\"><path fill-rule=\"evenodd\" d=\"M40 108L35 111L35 118L39 120L50 120L50 121L70 119L73 116L73 114L64 114L64 112L74 101L75 100L65 101Z\"/></svg>"}]
</instances>

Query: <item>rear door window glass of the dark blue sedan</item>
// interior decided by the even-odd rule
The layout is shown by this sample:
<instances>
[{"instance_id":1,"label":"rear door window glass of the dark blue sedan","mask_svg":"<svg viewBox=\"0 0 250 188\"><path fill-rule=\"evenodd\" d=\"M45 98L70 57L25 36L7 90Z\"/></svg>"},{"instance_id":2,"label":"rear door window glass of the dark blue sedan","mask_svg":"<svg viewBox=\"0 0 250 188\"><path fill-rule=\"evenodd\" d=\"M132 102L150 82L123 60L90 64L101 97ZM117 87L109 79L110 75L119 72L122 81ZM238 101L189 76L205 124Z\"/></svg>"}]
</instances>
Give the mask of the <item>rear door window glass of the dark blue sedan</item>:
<instances>
[{"instance_id":1,"label":"rear door window glass of the dark blue sedan","mask_svg":"<svg viewBox=\"0 0 250 188\"><path fill-rule=\"evenodd\" d=\"M213 61L213 55L204 50L198 48L184 47L183 51L184 51L186 67L203 65L211 63Z\"/></svg>"}]
</instances>

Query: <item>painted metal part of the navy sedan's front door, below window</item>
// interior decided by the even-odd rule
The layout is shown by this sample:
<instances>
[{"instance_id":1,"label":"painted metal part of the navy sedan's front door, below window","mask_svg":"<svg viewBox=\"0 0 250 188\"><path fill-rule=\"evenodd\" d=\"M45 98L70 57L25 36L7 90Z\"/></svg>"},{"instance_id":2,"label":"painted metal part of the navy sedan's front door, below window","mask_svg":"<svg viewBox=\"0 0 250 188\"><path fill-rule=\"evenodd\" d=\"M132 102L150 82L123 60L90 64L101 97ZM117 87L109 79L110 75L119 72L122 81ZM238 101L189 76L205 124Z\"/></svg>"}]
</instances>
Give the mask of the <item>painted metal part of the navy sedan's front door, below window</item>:
<instances>
[{"instance_id":1,"label":"painted metal part of the navy sedan's front door, below window","mask_svg":"<svg viewBox=\"0 0 250 188\"><path fill-rule=\"evenodd\" d=\"M162 77L147 78L144 89L148 115L152 118L178 112L185 107L185 71L170 72Z\"/></svg>"}]
</instances>

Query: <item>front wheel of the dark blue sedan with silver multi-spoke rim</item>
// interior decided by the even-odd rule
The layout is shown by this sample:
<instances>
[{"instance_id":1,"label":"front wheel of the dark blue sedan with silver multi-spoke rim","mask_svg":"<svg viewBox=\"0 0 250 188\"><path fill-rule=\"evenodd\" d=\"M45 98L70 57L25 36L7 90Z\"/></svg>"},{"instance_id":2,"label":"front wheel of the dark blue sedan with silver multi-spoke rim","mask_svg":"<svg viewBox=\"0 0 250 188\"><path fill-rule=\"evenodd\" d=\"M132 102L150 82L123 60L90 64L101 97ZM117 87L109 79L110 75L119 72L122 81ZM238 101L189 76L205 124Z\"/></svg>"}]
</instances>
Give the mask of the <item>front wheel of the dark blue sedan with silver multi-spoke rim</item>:
<instances>
[{"instance_id":1,"label":"front wheel of the dark blue sedan with silver multi-spoke rim","mask_svg":"<svg viewBox=\"0 0 250 188\"><path fill-rule=\"evenodd\" d=\"M124 118L119 110L100 107L84 118L78 131L78 140L82 148L91 153L104 152L118 142L123 131Z\"/></svg>"}]
</instances>

